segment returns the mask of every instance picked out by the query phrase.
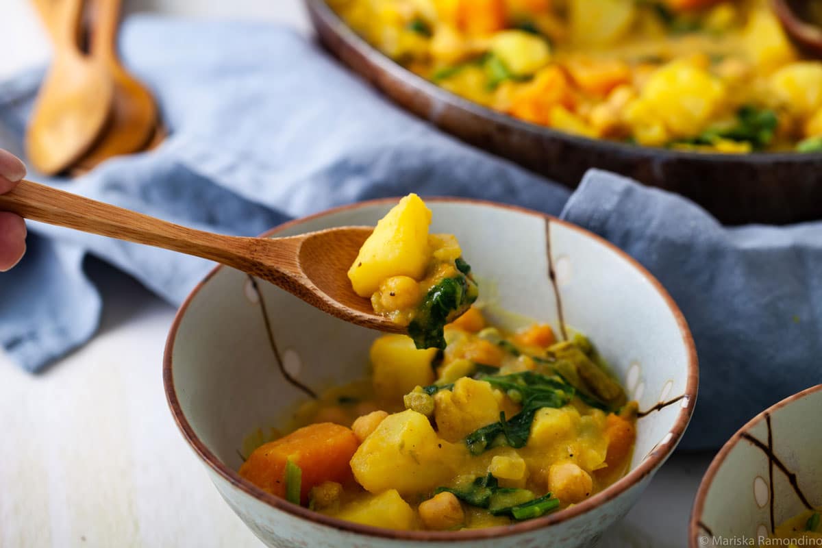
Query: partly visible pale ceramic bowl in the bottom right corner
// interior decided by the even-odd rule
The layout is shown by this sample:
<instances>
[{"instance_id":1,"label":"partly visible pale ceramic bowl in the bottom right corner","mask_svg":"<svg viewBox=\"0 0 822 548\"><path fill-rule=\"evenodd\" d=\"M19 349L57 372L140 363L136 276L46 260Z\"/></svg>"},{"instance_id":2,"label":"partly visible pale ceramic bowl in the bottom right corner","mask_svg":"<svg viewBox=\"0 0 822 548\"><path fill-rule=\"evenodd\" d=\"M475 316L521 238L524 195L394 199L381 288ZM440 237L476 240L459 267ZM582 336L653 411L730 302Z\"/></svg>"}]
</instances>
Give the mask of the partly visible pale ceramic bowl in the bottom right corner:
<instances>
[{"instance_id":1,"label":"partly visible pale ceramic bowl in the bottom right corner","mask_svg":"<svg viewBox=\"0 0 822 548\"><path fill-rule=\"evenodd\" d=\"M760 546L780 523L822 505L820 417L822 385L766 409L727 441L696 494L691 548Z\"/></svg>"}]
</instances>

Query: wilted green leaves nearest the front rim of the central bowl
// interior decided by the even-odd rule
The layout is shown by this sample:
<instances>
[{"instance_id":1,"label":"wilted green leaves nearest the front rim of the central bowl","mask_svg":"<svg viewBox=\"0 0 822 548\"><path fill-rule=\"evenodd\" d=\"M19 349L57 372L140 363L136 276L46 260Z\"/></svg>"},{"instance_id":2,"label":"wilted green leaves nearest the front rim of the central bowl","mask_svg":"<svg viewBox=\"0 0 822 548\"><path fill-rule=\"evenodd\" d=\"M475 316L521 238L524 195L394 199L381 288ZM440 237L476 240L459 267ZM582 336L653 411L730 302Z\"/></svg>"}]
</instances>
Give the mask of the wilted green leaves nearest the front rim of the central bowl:
<instances>
[{"instance_id":1,"label":"wilted green leaves nearest the front rim of the central bowl","mask_svg":"<svg viewBox=\"0 0 822 548\"><path fill-rule=\"evenodd\" d=\"M451 489L439 487L436 494L449 492L465 504L487 509L495 516L510 516L517 520L538 518L556 509L560 501L553 498L551 493L534 498L533 492L526 489L508 489L499 486L496 477L490 473L485 477L477 477L467 487Z\"/></svg>"}]
</instances>

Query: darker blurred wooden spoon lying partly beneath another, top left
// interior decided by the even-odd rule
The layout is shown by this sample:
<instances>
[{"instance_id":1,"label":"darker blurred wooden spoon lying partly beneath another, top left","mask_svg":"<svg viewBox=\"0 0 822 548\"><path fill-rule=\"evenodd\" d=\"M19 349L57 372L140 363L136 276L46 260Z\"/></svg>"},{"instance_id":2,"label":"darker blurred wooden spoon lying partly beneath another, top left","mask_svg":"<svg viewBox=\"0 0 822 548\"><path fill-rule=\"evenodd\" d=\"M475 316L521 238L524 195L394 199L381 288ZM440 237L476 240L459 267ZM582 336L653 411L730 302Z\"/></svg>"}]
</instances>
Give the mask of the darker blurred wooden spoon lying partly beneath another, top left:
<instances>
[{"instance_id":1,"label":"darker blurred wooden spoon lying partly beneath another, top left","mask_svg":"<svg viewBox=\"0 0 822 548\"><path fill-rule=\"evenodd\" d=\"M114 81L111 123L103 138L81 159L79 166L94 168L120 154L145 149L154 136L157 105L154 97L120 62L117 55L117 30L120 0L90 0L93 21L91 58L109 71Z\"/></svg>"}]
</instances>

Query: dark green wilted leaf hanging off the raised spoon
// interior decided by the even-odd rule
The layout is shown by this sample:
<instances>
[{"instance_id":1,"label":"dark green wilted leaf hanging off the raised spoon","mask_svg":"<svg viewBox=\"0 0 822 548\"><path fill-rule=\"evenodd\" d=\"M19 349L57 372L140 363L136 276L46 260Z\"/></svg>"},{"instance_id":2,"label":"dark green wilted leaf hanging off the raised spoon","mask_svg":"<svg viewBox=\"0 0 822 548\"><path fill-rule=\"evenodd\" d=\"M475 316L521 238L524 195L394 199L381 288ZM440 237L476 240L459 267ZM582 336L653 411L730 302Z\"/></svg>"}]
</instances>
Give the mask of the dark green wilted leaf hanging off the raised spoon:
<instances>
[{"instance_id":1,"label":"dark green wilted leaf hanging off the raised spoon","mask_svg":"<svg viewBox=\"0 0 822 548\"><path fill-rule=\"evenodd\" d=\"M464 274L446 278L429 289L409 324L409 335L417 348L446 348L443 328L477 297L477 284Z\"/></svg>"}]
</instances>

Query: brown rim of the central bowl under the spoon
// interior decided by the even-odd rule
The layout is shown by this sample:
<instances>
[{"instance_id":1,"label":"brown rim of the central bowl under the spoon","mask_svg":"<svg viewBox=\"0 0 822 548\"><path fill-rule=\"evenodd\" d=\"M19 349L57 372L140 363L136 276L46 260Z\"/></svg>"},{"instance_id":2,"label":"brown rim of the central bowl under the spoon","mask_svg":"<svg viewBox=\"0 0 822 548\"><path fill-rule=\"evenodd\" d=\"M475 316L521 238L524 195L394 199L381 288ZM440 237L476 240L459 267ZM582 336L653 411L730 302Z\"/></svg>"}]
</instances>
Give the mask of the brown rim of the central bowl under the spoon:
<instances>
[{"instance_id":1,"label":"brown rim of the central bowl under the spoon","mask_svg":"<svg viewBox=\"0 0 822 548\"><path fill-rule=\"evenodd\" d=\"M621 259L626 260L631 266L633 266L638 271L638 273L641 276L643 276L648 283L650 283L650 285L658 292L658 294L661 297L663 297L663 301L668 306L668 309L671 311L672 315L674 316L674 319L677 321L677 327L679 328L682 337L682 343L684 344L687 353L687 380L685 391L683 393L686 400L685 398L683 398L682 403L677 406L679 408L679 411L677 414L677 420L674 422L674 425L670 430L670 434L672 435L671 439L666 444L661 444L661 447L660 445L658 445L655 448L651 449L649 456L646 457L644 461L640 463L640 465L636 467L634 470L631 470L624 477L621 477L619 480L615 481L611 486L608 486L606 489L598 492L596 495L593 495L589 499L584 500L580 504L575 504L574 506L568 509L561 510L560 512L549 513L541 518L534 518L528 521L515 523L509 526L486 527L481 529L466 529L463 531L455 532L399 531L394 529L387 529L384 527L361 525L359 523L344 521L339 518L332 518L330 516L326 516L325 514L317 513L313 510L303 508L298 504L292 504L287 500L281 499L278 496L272 495L264 490L261 490L259 487L253 485L250 481L243 479L242 477L240 477L237 471L228 467L219 458L217 458L217 456L214 453L212 453L208 447L205 446L202 440L200 440L200 438L197 437L196 433L194 432L194 429L192 428L191 424L189 424L187 418L182 412L182 408L177 397L173 380L173 350L174 343L176 342L178 334L178 329L182 323L183 316L186 315L188 306L191 305L192 301L197 296L197 294L201 291L205 284L208 283L210 279L212 279L215 276L215 274L217 274L221 269L226 268L223 265L218 265L215 267L215 269L212 269L210 273L205 276L205 279L203 279L200 283L196 285L194 289L192 289L192 292L188 295L186 300L180 306L177 314L174 316L173 323L171 325L171 328L169 329L169 337L166 340L163 357L163 384L166 400L169 404L169 408L174 418L174 421L177 423L178 428L182 432L182 436L187 440L188 444L192 446L192 449L194 449L195 453L201 458L201 460L205 462L206 465L208 465L211 468L212 471L216 472L225 481L229 481L229 483L238 490L242 490L246 495L251 495L256 500L261 501L265 504L269 504L270 506L273 506L275 509L279 509L285 513L289 513L293 515L293 517L295 518L307 519L308 521L311 521L313 523L318 523L320 525L324 525L327 527L333 527L338 530L358 533L365 536L376 536L386 539L407 541L486 540L490 538L496 538L499 536L515 535L519 533L533 531L534 529L548 527L551 525L555 525L556 523L562 523L567 520L570 520L571 518L575 518L580 514L586 513L591 509L597 508L607 503L609 500L616 498L618 495L621 495L633 486L640 483L640 481L642 481L645 477L649 476L650 474L653 474L658 468L658 466L661 466L662 463L664 463L665 460L668 458L668 456L670 456L673 449L677 446L679 440L681 440L682 435L685 433L686 427L688 426L688 423L690 421L690 417L693 415L694 412L697 390L699 386L699 364L696 357L694 339L690 334L690 329L688 328L685 316L682 315L679 307L677 306L677 303L674 302L673 298L670 296L670 294L668 294L667 290L663 288L662 283L659 283L659 281L656 278L654 278L653 275L650 274L647 269L640 265L640 263L637 260L629 256L625 251L622 251L620 248L618 248L611 242L608 242L603 237L599 237L598 235L591 233L588 230L585 230L584 228L578 227L575 224L569 223L561 219L557 219L552 215L543 214L534 210L528 210L526 208L522 208L516 205L501 204L488 200L475 200L469 198L455 198L446 196L425 197L424 199L427 203L477 205L480 207L490 207L500 210L513 210L520 214L527 214L532 217L537 217L538 219L550 220L551 223L561 224L565 228L569 228L570 230L574 230L578 233L581 233L585 237L593 239L599 244L615 252L617 256L620 256ZM312 221L315 219L320 219L328 215L339 214L344 211L357 210L360 208L370 207L374 205L395 204L397 200L399 200L399 197L365 200L354 204L342 205L339 207L332 208L330 210L322 211L317 214L308 215L307 217L294 219L287 223L280 224L277 227L272 228L269 231L266 231L266 233L263 233L261 237L270 237L288 228L293 228L295 226L298 226L299 224L306 223L308 221Z\"/></svg>"}]
</instances>

